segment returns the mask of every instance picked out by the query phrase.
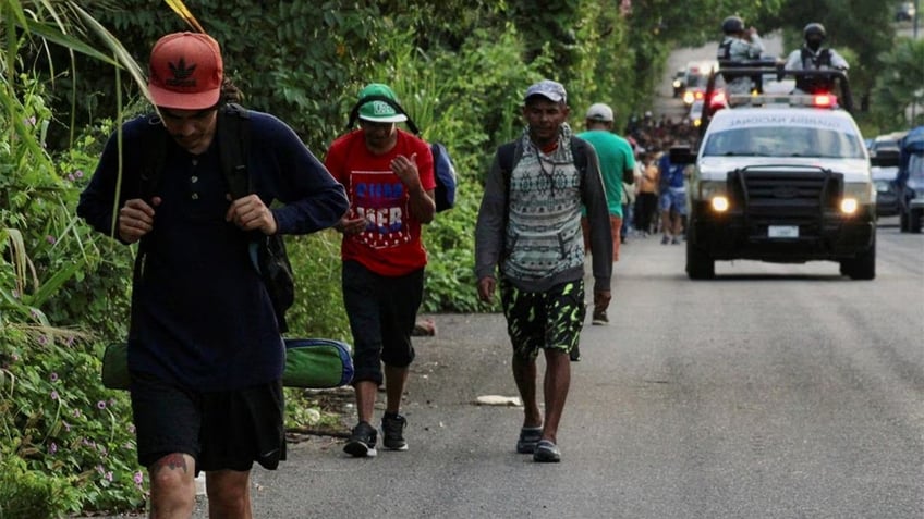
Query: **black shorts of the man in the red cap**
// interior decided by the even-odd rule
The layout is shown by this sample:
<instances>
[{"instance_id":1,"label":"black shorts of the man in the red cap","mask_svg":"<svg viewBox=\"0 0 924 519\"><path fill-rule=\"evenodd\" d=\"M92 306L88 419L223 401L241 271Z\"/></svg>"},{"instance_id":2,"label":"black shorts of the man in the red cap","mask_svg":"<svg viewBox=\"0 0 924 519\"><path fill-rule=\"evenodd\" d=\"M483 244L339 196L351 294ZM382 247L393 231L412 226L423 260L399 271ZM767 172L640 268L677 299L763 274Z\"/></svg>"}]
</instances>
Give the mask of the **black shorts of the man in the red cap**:
<instances>
[{"instance_id":1,"label":"black shorts of the man in the red cap","mask_svg":"<svg viewBox=\"0 0 924 519\"><path fill-rule=\"evenodd\" d=\"M228 392L194 392L132 372L132 412L138 462L150 467L172 453L200 470L272 470L285 459L282 382Z\"/></svg>"}]
</instances>

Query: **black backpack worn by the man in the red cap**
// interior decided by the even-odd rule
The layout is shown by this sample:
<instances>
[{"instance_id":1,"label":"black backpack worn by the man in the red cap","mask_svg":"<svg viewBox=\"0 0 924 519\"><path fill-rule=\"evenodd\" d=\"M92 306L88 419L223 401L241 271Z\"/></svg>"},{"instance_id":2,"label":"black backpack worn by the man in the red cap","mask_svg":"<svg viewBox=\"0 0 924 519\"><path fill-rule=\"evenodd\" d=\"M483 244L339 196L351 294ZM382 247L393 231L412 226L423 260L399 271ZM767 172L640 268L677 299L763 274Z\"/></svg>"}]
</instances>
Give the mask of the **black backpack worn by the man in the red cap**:
<instances>
[{"instance_id":1,"label":"black backpack worn by the man in the red cap","mask_svg":"<svg viewBox=\"0 0 924 519\"><path fill-rule=\"evenodd\" d=\"M165 132L149 132L150 141L146 143L145 165L139 175L139 194L145 200L155 195L155 190L163 173L163 158L167 147L167 134ZM228 103L218 111L218 125L216 128L218 139L218 153L221 163L221 172L228 183L228 191L234 199L253 193L252 178L247 172L247 157L250 150L250 114L240 104ZM157 141L154 141L154 140ZM141 270L146 254L146 240L142 238L138 246L138 256L135 260L135 280L141 276ZM285 251L285 242L281 234L267 236L257 231L252 233L251 247L256 249L254 268L260 275L272 309L276 312L276 321L280 332L288 332L285 311L295 301L295 279L292 265Z\"/></svg>"}]
</instances>

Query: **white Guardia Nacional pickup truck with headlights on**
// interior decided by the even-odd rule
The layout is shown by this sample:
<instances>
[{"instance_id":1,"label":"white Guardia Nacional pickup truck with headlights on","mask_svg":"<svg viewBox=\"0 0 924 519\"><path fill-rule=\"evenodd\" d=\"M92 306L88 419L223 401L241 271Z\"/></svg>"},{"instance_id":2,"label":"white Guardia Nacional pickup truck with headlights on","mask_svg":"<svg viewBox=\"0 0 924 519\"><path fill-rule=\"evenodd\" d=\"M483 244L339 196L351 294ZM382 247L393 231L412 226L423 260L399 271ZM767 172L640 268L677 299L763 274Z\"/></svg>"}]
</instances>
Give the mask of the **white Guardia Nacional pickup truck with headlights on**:
<instances>
[{"instance_id":1,"label":"white Guardia Nacional pickup truck with headlights on","mask_svg":"<svg viewBox=\"0 0 924 519\"><path fill-rule=\"evenodd\" d=\"M767 73L735 67L716 74L726 72L732 78ZM847 76L837 74L849 90ZM671 150L671 162L693 164L688 276L712 279L717 260L753 259L835 261L842 275L874 279L871 159L851 114L818 92L727 94L727 107L704 120L698 153Z\"/></svg>"}]
</instances>

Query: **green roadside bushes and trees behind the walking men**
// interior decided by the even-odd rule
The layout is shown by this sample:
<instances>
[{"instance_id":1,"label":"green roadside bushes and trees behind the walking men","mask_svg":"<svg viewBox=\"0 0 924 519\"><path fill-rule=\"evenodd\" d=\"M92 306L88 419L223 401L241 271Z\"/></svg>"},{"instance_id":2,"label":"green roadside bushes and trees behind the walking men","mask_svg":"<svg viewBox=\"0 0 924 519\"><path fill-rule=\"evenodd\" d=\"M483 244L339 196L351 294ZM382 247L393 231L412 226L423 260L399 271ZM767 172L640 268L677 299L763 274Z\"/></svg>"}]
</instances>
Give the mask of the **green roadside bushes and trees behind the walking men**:
<instances>
[{"instance_id":1,"label":"green roadside bushes and trees behind the walking men","mask_svg":"<svg viewBox=\"0 0 924 519\"><path fill-rule=\"evenodd\" d=\"M714 40L738 13L783 29L787 48L807 21L826 24L868 99L858 115L868 135L907 127L902 107L924 84L922 40L897 39L880 0L813 12L798 0L189 3L245 104L285 120L319 157L369 82L390 84L424 137L446 143L460 190L425 231L426 312L495 310L472 274L481 181L494 148L522 131L521 96L539 78L566 85L575 127L597 101L623 127L651 107L669 52ZM854 15L838 14L846 3ZM148 110L138 82L150 46L184 29L155 0L0 0L0 519L145 505L127 397L99 383L102 348L126 334L134 248L90 232L74 208L107 136ZM291 335L349 342L339 236L288 245ZM290 425L337 423L311 397L287 397Z\"/></svg>"}]
</instances>

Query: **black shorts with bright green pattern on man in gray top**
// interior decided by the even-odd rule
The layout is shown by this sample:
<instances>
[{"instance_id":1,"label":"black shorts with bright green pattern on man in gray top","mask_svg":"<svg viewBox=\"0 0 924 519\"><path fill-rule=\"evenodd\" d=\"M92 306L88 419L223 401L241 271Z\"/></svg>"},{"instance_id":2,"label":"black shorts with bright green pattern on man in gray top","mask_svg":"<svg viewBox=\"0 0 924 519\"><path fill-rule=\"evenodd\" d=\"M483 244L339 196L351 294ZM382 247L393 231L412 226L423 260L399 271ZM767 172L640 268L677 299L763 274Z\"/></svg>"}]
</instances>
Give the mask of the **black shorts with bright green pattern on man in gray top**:
<instances>
[{"instance_id":1,"label":"black shorts with bright green pattern on man in gray top","mask_svg":"<svg viewBox=\"0 0 924 519\"><path fill-rule=\"evenodd\" d=\"M570 354L581 338L587 311L584 280L562 283L546 292L526 292L501 279L500 302L518 358L535 359L539 349Z\"/></svg>"}]
</instances>

